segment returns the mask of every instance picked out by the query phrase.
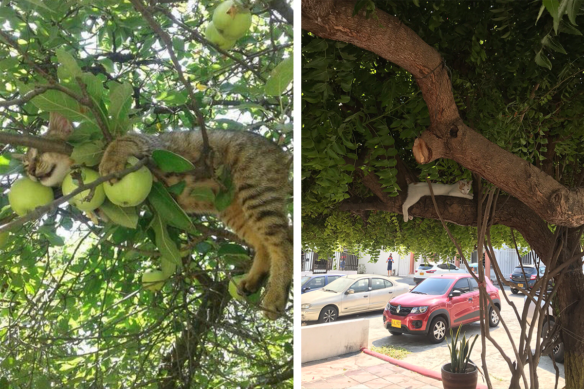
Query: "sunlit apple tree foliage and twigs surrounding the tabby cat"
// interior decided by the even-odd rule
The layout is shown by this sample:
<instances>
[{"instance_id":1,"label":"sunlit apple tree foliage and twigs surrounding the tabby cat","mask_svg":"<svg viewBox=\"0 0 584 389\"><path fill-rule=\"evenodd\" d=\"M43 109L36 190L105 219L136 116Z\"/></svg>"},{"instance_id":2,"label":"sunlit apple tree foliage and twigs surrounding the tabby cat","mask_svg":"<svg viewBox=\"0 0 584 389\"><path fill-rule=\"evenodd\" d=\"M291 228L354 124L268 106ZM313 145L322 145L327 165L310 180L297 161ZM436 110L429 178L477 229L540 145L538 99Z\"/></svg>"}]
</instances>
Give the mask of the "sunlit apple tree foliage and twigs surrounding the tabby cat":
<instances>
[{"instance_id":1,"label":"sunlit apple tree foliage and twigs surrounding the tabby cat","mask_svg":"<svg viewBox=\"0 0 584 389\"><path fill-rule=\"evenodd\" d=\"M148 204L102 209L109 218L64 202L19 225L8 206L23 173L13 153L47 146L25 135L40 135L50 111L74 121L72 157L88 166L108 135L201 125L255 131L291 153L290 4L251 4L251 31L225 51L203 32L218 3L3 3L0 387L292 386L290 309L272 323L258 303L232 299L251 249L217 218L181 213L168 195L180 188L155 183ZM227 184L211 194L221 208L229 172L214 168ZM145 269L173 265L182 271L161 292L141 288Z\"/></svg>"}]
</instances>

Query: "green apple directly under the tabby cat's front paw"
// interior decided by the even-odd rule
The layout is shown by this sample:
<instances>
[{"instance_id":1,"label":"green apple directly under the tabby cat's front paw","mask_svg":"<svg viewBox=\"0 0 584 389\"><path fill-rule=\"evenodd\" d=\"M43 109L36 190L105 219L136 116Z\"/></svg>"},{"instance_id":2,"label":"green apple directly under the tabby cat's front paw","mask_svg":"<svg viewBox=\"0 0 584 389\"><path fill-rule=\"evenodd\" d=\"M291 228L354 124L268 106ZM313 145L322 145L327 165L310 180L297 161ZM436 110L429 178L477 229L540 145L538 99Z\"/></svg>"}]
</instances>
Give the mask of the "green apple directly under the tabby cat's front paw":
<instances>
[{"instance_id":1,"label":"green apple directly under the tabby cat's front paw","mask_svg":"<svg viewBox=\"0 0 584 389\"><path fill-rule=\"evenodd\" d=\"M135 206L148 197L152 188L152 173L142 166L137 171L122 177L115 184L103 183L103 190L113 204Z\"/></svg>"}]
</instances>

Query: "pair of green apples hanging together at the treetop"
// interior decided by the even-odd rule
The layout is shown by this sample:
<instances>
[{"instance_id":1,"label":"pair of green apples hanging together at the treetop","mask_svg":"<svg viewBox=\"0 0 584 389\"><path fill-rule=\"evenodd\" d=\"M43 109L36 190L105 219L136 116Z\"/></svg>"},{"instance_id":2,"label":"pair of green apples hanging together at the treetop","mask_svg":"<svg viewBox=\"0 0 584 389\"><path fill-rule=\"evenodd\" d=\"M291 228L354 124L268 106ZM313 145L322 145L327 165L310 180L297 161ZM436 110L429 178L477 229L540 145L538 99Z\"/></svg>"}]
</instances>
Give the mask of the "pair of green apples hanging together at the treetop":
<instances>
[{"instance_id":1,"label":"pair of green apples hanging together at the treetop","mask_svg":"<svg viewBox=\"0 0 584 389\"><path fill-rule=\"evenodd\" d=\"M205 30L207 40L222 50L232 47L252 25L252 14L234 0L227 0L215 8L213 20Z\"/></svg>"}]
</instances>

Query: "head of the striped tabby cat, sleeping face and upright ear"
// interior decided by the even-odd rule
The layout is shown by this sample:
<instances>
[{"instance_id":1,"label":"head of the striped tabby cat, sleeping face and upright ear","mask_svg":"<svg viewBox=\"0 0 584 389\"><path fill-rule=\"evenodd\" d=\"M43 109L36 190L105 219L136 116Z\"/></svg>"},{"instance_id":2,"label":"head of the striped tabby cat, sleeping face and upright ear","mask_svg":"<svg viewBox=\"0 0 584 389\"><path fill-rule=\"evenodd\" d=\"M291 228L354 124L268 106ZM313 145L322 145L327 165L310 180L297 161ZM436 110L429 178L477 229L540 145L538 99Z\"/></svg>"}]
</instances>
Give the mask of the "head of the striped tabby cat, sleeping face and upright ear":
<instances>
[{"instance_id":1,"label":"head of the striped tabby cat, sleeping face and upright ear","mask_svg":"<svg viewBox=\"0 0 584 389\"><path fill-rule=\"evenodd\" d=\"M71 135L72 131L71 121L58 113L51 112L48 120L48 131L43 136L64 141ZM22 163L31 180L39 181L46 187L54 187L61 184L72 162L65 154L41 153L37 149L29 148L28 152L22 156Z\"/></svg>"}]
</instances>

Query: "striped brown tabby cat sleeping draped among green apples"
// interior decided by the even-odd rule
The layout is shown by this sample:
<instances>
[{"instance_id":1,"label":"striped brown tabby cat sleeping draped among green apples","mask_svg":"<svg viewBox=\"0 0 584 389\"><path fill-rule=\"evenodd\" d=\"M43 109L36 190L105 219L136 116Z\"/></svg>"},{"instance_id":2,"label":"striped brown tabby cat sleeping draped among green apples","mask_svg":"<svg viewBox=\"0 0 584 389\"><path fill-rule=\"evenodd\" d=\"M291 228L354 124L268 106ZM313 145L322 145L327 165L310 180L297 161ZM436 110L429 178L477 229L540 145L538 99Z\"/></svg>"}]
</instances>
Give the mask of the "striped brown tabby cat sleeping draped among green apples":
<instances>
[{"instance_id":1,"label":"striped brown tabby cat sleeping draped among green apples","mask_svg":"<svg viewBox=\"0 0 584 389\"><path fill-rule=\"evenodd\" d=\"M51 114L45 136L66 139L71 122ZM225 225L255 249L252 267L239 284L240 293L256 292L269 273L262 308L270 319L284 311L292 279L293 233L288 225L286 202L290 192L288 157L275 143L248 131L207 131L213 150L213 166L225 164L231 171L234 195L231 205L218 212L212 201L191 196L197 187L218 192L220 184L213 178L198 178L186 173L162 173L157 176L166 185L185 181L186 186L175 199L187 213L217 215ZM127 134L114 139L106 148L99 172L102 176L125 168L129 156L151 155L154 149L166 149L196 164L201 156L203 139L199 131L167 132L160 135ZM58 185L61 171L67 172L70 160L58 153L32 150L25 157L27 174L44 185ZM57 174L58 173L58 174Z\"/></svg>"}]
</instances>

